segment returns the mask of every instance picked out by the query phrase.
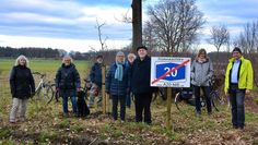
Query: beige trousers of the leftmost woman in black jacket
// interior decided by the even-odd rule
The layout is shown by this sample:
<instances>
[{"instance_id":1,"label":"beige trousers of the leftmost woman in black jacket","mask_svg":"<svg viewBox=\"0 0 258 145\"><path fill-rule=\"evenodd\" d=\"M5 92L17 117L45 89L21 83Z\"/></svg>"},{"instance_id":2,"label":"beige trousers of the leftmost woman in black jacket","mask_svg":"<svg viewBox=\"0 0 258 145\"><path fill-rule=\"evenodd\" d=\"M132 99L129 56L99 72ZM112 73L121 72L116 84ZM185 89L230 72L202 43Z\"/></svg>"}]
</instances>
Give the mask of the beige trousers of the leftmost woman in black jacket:
<instances>
[{"instance_id":1,"label":"beige trousers of the leftmost woman in black jacket","mask_svg":"<svg viewBox=\"0 0 258 145\"><path fill-rule=\"evenodd\" d=\"M17 114L19 106L21 106L20 119L21 119L21 121L25 121L27 99L13 98L12 99L12 110L11 110L11 113L10 113L10 122L15 122L16 121L16 114Z\"/></svg>"}]
</instances>

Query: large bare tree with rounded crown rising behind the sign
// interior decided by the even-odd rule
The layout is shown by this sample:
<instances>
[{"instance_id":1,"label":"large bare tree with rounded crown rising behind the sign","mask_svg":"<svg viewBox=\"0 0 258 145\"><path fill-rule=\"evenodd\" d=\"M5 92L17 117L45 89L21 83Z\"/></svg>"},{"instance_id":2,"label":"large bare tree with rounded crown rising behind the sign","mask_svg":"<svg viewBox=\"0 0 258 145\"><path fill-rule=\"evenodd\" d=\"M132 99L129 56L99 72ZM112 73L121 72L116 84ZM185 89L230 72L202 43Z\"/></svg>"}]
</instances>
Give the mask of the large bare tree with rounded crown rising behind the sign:
<instances>
[{"instance_id":1,"label":"large bare tree with rounded crown rising behind the sign","mask_svg":"<svg viewBox=\"0 0 258 145\"><path fill-rule=\"evenodd\" d=\"M150 20L146 24L152 27L152 38L168 56L192 44L197 31L204 24L196 0L161 0L149 7L148 14Z\"/></svg>"}]
</instances>

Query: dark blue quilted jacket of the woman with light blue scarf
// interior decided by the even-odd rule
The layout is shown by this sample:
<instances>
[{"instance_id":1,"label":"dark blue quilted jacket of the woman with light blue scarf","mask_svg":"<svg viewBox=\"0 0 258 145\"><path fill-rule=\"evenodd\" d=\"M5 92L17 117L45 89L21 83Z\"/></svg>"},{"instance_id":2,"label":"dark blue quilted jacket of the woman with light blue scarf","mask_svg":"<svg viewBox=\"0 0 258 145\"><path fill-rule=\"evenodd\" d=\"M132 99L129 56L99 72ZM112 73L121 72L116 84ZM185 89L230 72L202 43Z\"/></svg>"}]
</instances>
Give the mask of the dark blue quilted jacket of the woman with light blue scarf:
<instances>
[{"instance_id":1,"label":"dark blue quilted jacket of the woman with light blue scarf","mask_svg":"<svg viewBox=\"0 0 258 145\"><path fill-rule=\"evenodd\" d=\"M122 81L118 81L115 78L115 73L117 69L117 64L112 64L107 76L106 76L106 90L110 93L110 95L117 95L117 96L125 96L127 95L129 90L129 68L124 64L122 65Z\"/></svg>"}]
</instances>

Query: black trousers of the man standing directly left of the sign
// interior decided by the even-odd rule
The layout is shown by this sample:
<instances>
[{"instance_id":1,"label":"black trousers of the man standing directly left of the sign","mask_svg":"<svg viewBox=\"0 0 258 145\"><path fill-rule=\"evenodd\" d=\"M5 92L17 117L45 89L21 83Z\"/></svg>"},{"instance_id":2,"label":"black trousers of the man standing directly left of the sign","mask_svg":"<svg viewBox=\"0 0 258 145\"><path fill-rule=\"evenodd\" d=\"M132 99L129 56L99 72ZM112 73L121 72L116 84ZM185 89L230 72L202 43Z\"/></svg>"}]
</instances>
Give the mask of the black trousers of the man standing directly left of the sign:
<instances>
[{"instance_id":1,"label":"black trousers of the man standing directly left of the sign","mask_svg":"<svg viewBox=\"0 0 258 145\"><path fill-rule=\"evenodd\" d=\"M136 121L142 122L142 112L144 110L144 122L150 124L151 120L151 100L152 94L134 94L136 98Z\"/></svg>"}]
</instances>

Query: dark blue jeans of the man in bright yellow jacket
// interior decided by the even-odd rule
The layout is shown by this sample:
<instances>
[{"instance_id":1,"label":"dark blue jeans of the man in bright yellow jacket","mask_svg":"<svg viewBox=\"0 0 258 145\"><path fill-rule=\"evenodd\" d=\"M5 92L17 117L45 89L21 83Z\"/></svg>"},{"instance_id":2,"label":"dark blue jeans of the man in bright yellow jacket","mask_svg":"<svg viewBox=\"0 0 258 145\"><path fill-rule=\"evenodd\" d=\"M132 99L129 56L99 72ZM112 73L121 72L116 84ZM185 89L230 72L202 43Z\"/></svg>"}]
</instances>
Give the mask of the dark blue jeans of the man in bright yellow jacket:
<instances>
[{"instance_id":1,"label":"dark blue jeans of the man in bright yellow jacket","mask_svg":"<svg viewBox=\"0 0 258 145\"><path fill-rule=\"evenodd\" d=\"M232 123L236 128L245 125L245 89L230 89Z\"/></svg>"}]
</instances>

